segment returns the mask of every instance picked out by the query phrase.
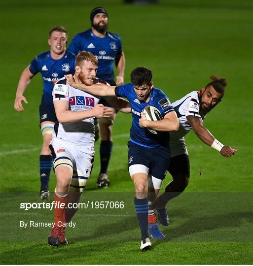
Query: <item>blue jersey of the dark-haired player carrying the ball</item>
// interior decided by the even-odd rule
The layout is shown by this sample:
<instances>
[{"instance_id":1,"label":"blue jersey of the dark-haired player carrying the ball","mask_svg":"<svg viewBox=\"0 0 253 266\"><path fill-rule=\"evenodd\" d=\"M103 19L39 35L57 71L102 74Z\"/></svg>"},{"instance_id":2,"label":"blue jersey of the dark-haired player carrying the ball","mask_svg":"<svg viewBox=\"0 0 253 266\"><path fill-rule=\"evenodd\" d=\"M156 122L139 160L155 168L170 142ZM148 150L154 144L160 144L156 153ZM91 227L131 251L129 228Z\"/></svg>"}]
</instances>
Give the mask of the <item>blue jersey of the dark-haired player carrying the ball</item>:
<instances>
[{"instance_id":1,"label":"blue jersey of the dark-haired player carrying the ball","mask_svg":"<svg viewBox=\"0 0 253 266\"><path fill-rule=\"evenodd\" d=\"M170 139L168 132L156 135L150 133L145 128L141 128L139 125L141 112L147 105L152 105L158 108L163 117L169 112L174 111L168 96L160 89L154 88L150 94L148 102L138 100L134 91L134 85L131 83L117 86L115 88L115 94L118 97L127 98L132 108L133 124L130 130L130 140L133 143L147 148L168 147Z\"/></svg>"}]
</instances>

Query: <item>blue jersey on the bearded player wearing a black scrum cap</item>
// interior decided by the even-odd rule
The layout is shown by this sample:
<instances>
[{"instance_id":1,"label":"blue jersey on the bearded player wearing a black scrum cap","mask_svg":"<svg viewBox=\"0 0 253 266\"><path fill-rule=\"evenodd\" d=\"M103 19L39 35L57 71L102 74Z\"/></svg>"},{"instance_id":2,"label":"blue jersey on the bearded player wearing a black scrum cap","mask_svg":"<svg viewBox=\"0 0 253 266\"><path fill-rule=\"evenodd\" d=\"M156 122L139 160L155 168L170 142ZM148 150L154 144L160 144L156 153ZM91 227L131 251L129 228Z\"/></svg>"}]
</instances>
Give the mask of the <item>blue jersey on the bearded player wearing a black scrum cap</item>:
<instances>
[{"instance_id":1,"label":"blue jersey on the bearded player wearing a black scrum cap","mask_svg":"<svg viewBox=\"0 0 253 266\"><path fill-rule=\"evenodd\" d=\"M80 51L92 53L99 61L96 76L106 81L112 81L114 79L114 60L116 55L122 53L122 44L119 35L107 32L104 38L100 38L93 34L90 29L76 34L68 50L75 55Z\"/></svg>"}]
</instances>

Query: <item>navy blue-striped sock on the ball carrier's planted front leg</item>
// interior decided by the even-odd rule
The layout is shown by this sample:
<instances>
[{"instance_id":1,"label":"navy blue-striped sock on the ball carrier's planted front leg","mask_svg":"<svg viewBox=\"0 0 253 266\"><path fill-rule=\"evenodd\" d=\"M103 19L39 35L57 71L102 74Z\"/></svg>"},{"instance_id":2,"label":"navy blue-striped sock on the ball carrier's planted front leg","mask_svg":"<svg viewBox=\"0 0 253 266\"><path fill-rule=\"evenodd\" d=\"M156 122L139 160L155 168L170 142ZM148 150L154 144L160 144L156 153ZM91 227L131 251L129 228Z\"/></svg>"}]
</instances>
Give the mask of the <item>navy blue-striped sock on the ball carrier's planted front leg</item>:
<instances>
[{"instance_id":1,"label":"navy blue-striped sock on the ball carrier's planted front leg","mask_svg":"<svg viewBox=\"0 0 253 266\"><path fill-rule=\"evenodd\" d=\"M142 232L142 239L148 237L147 227L148 227L148 200L145 199L136 199L135 197L135 210L137 218L139 221L140 229Z\"/></svg>"}]
</instances>

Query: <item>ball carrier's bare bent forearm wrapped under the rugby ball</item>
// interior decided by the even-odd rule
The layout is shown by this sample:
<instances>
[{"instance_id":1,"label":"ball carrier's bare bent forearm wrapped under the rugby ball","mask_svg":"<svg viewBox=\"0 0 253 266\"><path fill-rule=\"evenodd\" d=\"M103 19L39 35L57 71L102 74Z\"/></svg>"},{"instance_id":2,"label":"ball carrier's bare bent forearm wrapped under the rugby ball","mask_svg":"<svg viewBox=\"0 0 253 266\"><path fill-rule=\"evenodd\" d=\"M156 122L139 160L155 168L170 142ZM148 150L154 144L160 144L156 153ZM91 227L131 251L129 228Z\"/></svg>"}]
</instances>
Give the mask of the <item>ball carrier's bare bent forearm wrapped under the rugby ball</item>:
<instances>
[{"instance_id":1,"label":"ball carrier's bare bent forearm wrapped under the rugby ball","mask_svg":"<svg viewBox=\"0 0 253 266\"><path fill-rule=\"evenodd\" d=\"M151 128L158 131L178 131L179 120L175 111L171 111L165 115L164 119L158 121L147 121L143 112L142 118L139 120L141 128Z\"/></svg>"}]
</instances>

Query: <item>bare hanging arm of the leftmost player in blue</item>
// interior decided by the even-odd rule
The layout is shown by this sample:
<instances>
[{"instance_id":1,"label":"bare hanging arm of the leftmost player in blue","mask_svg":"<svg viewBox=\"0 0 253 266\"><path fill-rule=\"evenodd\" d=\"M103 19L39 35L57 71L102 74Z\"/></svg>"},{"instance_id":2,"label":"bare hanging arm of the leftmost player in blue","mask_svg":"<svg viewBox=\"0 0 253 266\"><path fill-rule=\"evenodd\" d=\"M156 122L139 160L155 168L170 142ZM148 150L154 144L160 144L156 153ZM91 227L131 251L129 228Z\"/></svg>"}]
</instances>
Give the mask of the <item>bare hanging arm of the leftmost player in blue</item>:
<instances>
[{"instance_id":1,"label":"bare hanging arm of the leftmost player in blue","mask_svg":"<svg viewBox=\"0 0 253 266\"><path fill-rule=\"evenodd\" d=\"M17 92L16 92L16 98L14 101L14 109L18 112L24 111L24 107L22 106L22 101L24 101L25 103L28 103L26 98L23 96L25 90L27 89L28 85L31 82L31 79L34 77L35 75L31 73L29 66L27 66L23 73L21 74L21 77L19 79L18 82L18 88L17 88Z\"/></svg>"}]
</instances>

